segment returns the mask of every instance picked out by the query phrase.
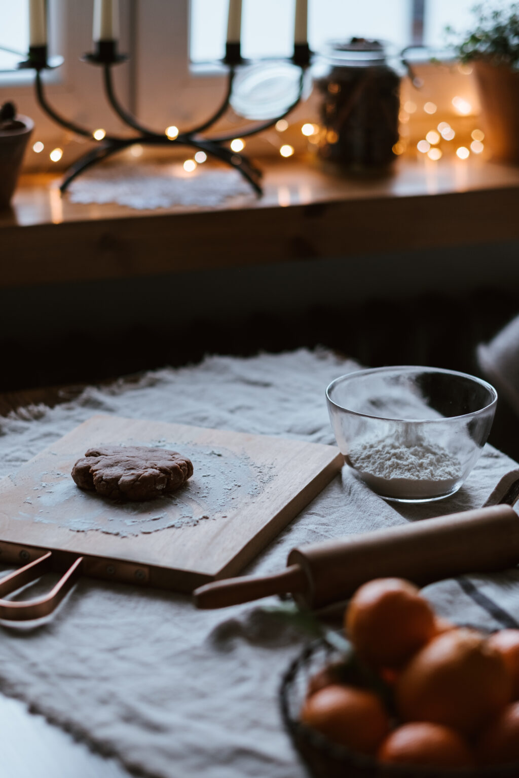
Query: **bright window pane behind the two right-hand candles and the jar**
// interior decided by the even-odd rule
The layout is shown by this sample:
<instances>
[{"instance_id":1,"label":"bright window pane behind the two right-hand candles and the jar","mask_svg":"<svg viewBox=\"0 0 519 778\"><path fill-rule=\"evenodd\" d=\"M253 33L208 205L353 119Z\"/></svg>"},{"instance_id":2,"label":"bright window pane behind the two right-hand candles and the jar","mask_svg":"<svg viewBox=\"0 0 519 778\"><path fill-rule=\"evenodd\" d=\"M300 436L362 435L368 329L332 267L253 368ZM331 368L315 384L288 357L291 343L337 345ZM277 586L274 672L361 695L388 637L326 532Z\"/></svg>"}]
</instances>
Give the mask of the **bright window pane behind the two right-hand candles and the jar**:
<instances>
[{"instance_id":1,"label":"bright window pane behind the two right-hand candles and the jar","mask_svg":"<svg viewBox=\"0 0 519 778\"><path fill-rule=\"evenodd\" d=\"M228 0L191 0L191 60L223 57ZM245 57L286 57L293 47L295 0L244 0L242 51ZM410 0L310 0L310 47L326 40L384 38L399 46L411 39Z\"/></svg>"}]
</instances>

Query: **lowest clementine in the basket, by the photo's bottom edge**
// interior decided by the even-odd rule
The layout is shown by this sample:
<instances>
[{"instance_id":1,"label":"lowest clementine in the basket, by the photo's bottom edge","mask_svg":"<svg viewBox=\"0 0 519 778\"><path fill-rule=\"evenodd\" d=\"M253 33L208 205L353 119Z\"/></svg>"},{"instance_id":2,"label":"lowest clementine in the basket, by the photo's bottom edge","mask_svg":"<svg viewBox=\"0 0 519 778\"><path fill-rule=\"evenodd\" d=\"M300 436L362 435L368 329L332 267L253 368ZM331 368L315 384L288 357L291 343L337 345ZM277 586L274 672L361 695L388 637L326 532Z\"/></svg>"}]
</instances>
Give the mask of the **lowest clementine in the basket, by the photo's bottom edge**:
<instances>
[{"instance_id":1,"label":"lowest clementine in the basket, by the photo's bottom edge","mask_svg":"<svg viewBox=\"0 0 519 778\"><path fill-rule=\"evenodd\" d=\"M429 721L398 727L382 742L380 762L430 767L472 767L474 758L458 732Z\"/></svg>"}]
</instances>

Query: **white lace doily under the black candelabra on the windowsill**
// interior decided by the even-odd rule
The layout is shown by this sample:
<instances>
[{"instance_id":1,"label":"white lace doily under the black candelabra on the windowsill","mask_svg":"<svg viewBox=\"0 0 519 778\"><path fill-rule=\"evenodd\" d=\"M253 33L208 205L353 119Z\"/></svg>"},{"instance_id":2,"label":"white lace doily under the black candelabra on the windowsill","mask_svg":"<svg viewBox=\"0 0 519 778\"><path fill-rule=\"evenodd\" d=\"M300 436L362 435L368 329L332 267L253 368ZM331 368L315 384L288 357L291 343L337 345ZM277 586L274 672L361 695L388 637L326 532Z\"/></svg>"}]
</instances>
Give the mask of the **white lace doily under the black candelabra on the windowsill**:
<instances>
[{"instance_id":1,"label":"white lace doily under the black candelabra on the windowsill","mask_svg":"<svg viewBox=\"0 0 519 778\"><path fill-rule=\"evenodd\" d=\"M236 170L204 166L186 173L180 163L99 167L84 173L68 189L72 202L111 202L139 210L171 205L211 208L238 195L255 197L251 185Z\"/></svg>"}]
</instances>

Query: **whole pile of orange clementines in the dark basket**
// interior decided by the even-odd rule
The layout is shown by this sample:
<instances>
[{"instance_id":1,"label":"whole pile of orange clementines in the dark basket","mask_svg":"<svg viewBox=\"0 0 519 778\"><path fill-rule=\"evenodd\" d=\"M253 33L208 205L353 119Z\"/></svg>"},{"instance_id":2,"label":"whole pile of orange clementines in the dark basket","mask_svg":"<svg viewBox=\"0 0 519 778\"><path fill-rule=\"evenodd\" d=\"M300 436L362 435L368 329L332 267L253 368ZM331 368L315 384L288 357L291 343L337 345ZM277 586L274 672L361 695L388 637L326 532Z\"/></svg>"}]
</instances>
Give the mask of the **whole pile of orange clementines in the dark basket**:
<instances>
[{"instance_id":1,"label":"whole pile of orange clementines in the dark basket","mask_svg":"<svg viewBox=\"0 0 519 778\"><path fill-rule=\"evenodd\" d=\"M519 765L519 629L486 636L454 626L409 581L381 578L354 594L345 633L372 682L342 682L336 662L322 668L303 724L380 762Z\"/></svg>"}]
</instances>

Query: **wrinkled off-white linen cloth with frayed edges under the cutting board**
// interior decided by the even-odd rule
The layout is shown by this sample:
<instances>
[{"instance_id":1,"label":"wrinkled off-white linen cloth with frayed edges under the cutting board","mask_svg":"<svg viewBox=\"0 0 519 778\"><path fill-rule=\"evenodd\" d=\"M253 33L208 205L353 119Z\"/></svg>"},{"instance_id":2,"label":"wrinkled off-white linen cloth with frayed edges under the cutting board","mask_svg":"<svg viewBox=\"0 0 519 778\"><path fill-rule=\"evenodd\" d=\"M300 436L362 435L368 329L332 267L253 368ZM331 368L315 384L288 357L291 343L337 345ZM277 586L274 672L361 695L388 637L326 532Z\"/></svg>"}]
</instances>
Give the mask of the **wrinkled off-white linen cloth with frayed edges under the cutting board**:
<instances>
[{"instance_id":1,"label":"wrinkled off-white linen cloth with frayed edges under the cutting board","mask_svg":"<svg viewBox=\"0 0 519 778\"><path fill-rule=\"evenodd\" d=\"M98 412L333 443L324 388L354 369L330 352L300 350L211 357L136 384L89 388L52 410L1 419L0 475ZM295 545L480 506L514 468L487 446L457 495L399 511L345 468L248 572L282 569ZM517 618L515 573L479 585ZM456 581L426 591L449 618L494 626ZM47 621L0 627L2 691L149 776L303 778L277 702L303 639L271 619L260 605L198 612L183 595L82 580Z\"/></svg>"}]
</instances>

